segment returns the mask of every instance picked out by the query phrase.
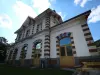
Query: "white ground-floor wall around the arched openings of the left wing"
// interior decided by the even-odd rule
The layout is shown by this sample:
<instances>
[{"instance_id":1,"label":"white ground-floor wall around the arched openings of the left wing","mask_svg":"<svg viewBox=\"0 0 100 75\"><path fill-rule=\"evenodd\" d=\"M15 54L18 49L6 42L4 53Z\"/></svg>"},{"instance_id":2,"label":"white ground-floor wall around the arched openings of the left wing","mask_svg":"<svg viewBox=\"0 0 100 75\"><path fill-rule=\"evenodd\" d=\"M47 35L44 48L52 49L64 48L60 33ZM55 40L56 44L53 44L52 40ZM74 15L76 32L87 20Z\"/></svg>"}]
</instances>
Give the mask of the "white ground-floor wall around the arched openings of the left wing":
<instances>
[{"instance_id":1,"label":"white ground-floor wall around the arched openings of the left wing","mask_svg":"<svg viewBox=\"0 0 100 75\"><path fill-rule=\"evenodd\" d=\"M35 37L33 37L32 39L27 39L27 40L15 45L15 48L18 48L18 54L17 54L16 60L19 60L20 52L21 52L21 49L24 46L24 44L28 44L28 50L27 50L25 59L31 59L33 42L38 39L42 39L42 56L40 58L43 58L44 57L44 39L45 39L45 37L44 37L44 34L39 34L39 35L36 35Z\"/></svg>"}]
</instances>

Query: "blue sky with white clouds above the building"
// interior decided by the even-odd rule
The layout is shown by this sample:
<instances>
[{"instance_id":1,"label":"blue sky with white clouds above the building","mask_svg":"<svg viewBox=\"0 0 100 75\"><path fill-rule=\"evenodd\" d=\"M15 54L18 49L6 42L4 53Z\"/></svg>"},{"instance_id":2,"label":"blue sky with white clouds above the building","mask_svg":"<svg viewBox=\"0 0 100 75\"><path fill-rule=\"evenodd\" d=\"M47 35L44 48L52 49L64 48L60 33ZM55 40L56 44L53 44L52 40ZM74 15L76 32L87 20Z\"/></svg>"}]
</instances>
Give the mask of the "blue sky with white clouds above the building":
<instances>
[{"instance_id":1,"label":"blue sky with white clouds above the building","mask_svg":"<svg viewBox=\"0 0 100 75\"><path fill-rule=\"evenodd\" d=\"M27 16L34 18L47 8L56 10L63 21L91 10L88 25L94 41L100 39L100 0L0 0L0 37L13 43L14 32Z\"/></svg>"}]
</instances>

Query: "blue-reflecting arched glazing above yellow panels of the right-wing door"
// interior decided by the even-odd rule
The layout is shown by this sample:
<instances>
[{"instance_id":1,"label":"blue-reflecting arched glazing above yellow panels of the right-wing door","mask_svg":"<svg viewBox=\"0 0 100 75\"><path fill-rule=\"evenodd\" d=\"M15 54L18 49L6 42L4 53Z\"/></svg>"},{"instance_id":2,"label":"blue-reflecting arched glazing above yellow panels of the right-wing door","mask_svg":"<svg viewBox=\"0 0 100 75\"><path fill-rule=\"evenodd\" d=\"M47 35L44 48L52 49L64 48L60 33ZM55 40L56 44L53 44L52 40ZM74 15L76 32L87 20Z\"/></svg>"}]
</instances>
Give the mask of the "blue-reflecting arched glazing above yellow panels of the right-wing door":
<instances>
[{"instance_id":1,"label":"blue-reflecting arched glazing above yellow panels of the right-wing door","mask_svg":"<svg viewBox=\"0 0 100 75\"><path fill-rule=\"evenodd\" d=\"M60 54L61 56L72 56L72 47L70 37L65 37L60 40Z\"/></svg>"}]
</instances>

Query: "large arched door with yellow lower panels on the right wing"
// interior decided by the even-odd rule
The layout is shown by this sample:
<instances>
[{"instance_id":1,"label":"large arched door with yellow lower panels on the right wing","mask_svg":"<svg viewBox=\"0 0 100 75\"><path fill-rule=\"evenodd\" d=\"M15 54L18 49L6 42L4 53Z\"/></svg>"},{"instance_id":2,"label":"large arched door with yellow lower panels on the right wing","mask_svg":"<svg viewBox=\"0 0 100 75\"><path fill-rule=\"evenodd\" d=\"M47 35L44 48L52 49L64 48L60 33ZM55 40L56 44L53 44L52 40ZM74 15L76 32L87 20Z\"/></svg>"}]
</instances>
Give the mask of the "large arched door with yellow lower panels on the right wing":
<instances>
[{"instance_id":1,"label":"large arched door with yellow lower panels on the right wing","mask_svg":"<svg viewBox=\"0 0 100 75\"><path fill-rule=\"evenodd\" d=\"M60 40L60 66L74 66L74 57L72 53L71 40L69 37Z\"/></svg>"}]
</instances>

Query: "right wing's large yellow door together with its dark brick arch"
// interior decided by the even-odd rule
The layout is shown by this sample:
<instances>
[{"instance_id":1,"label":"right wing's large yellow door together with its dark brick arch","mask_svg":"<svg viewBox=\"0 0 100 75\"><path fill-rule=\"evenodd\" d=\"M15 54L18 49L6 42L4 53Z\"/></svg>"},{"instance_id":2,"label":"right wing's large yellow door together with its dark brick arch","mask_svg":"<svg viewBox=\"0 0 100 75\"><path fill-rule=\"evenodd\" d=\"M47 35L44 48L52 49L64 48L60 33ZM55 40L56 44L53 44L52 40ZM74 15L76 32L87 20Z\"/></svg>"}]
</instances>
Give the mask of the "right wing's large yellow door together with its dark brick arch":
<instances>
[{"instance_id":1,"label":"right wing's large yellow door together with its dark brick arch","mask_svg":"<svg viewBox=\"0 0 100 75\"><path fill-rule=\"evenodd\" d=\"M61 67L74 66L71 36L72 36L71 32L62 33L59 36L57 36L58 40L57 50L59 50Z\"/></svg>"}]
</instances>

